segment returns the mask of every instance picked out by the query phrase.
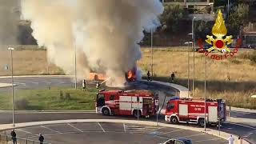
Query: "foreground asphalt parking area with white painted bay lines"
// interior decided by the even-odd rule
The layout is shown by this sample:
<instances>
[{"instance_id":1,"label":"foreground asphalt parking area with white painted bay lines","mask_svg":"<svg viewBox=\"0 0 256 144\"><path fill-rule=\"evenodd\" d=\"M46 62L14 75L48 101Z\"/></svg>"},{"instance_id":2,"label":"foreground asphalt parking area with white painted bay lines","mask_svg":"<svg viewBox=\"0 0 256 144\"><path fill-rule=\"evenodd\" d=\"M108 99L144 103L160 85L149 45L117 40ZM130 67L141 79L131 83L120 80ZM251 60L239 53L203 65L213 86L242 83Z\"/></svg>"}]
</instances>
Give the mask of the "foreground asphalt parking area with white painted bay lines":
<instances>
[{"instance_id":1,"label":"foreground asphalt parking area with white painted bay lines","mask_svg":"<svg viewBox=\"0 0 256 144\"><path fill-rule=\"evenodd\" d=\"M2 134L10 134L10 130ZM170 138L189 138L197 144L224 144L225 139L216 136L162 126L144 126L127 123L67 123L46 126L32 126L16 129L19 143L26 143L25 139L38 142L38 134L42 134L45 142L63 143L133 143L156 144L166 142Z\"/></svg>"}]
</instances>

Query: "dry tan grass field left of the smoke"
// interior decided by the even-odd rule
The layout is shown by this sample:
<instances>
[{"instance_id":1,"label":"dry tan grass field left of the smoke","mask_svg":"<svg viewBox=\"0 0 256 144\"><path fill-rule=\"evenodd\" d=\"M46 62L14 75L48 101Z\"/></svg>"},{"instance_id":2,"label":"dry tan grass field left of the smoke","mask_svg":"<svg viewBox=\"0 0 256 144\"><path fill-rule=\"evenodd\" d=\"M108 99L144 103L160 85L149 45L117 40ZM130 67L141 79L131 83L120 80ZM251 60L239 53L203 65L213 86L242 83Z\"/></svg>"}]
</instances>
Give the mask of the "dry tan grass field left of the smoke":
<instances>
[{"instance_id":1,"label":"dry tan grass field left of the smoke","mask_svg":"<svg viewBox=\"0 0 256 144\"><path fill-rule=\"evenodd\" d=\"M5 70L6 64L10 65L10 51L6 50L8 46L0 47L0 75L10 75L10 69ZM15 46L14 46L15 47ZM46 50L37 47L16 46L13 51L14 75L28 74L64 74L63 71L54 64L47 63Z\"/></svg>"}]
</instances>

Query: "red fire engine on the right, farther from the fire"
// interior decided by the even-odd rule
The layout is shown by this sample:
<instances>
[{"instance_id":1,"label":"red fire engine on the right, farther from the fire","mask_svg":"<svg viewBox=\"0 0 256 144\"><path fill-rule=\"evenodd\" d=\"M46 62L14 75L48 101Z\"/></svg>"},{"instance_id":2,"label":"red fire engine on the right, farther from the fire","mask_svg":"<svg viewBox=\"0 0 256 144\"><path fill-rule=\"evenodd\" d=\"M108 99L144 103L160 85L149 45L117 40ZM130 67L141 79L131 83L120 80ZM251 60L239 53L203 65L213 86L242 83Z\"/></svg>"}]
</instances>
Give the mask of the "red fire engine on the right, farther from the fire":
<instances>
[{"instance_id":1,"label":"red fire engine on the right, farther from the fire","mask_svg":"<svg viewBox=\"0 0 256 144\"><path fill-rule=\"evenodd\" d=\"M165 120L171 123L191 122L204 126L206 104L206 123L217 125L226 121L226 102L202 98L171 98L167 102Z\"/></svg>"}]
</instances>

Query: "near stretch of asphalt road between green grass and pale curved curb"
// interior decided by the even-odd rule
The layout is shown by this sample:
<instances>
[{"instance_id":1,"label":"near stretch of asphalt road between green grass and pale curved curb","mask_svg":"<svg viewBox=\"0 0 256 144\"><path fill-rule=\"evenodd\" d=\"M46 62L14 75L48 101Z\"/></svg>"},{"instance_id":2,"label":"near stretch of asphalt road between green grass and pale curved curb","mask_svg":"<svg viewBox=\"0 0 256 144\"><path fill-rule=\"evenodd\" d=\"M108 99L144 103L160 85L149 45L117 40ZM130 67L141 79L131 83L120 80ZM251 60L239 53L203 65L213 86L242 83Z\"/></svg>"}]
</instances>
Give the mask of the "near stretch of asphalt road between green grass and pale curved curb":
<instances>
[{"instance_id":1,"label":"near stretch of asphalt road between green grass and pale curved curb","mask_svg":"<svg viewBox=\"0 0 256 144\"><path fill-rule=\"evenodd\" d=\"M12 122L12 114L10 112L2 112L0 117L0 124L7 124ZM53 121L53 120L66 120L66 119L131 119L136 118L126 117L126 116L103 116L102 114L95 113L32 113L32 112L20 112L15 114L15 122L38 122L38 121ZM165 122L163 115L159 118L159 122ZM154 121L156 118L140 118L143 121ZM186 124L187 125L187 124ZM196 126L193 124L187 126ZM210 127L211 129L216 129L215 127ZM234 124L225 122L221 128L222 131L228 132L230 134L240 135L243 138L248 139L250 142L256 143L256 126L246 126L240 124Z\"/></svg>"}]
</instances>

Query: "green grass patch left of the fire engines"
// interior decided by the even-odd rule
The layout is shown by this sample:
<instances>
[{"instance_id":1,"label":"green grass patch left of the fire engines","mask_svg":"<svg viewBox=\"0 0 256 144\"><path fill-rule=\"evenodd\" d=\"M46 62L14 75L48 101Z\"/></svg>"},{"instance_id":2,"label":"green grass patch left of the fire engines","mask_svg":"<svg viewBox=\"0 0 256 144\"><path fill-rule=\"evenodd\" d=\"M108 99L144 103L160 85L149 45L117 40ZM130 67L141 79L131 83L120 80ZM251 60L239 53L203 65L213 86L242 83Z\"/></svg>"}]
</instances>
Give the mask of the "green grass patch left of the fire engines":
<instances>
[{"instance_id":1,"label":"green grass patch left of the fire engines","mask_svg":"<svg viewBox=\"0 0 256 144\"><path fill-rule=\"evenodd\" d=\"M86 92L83 90L60 88L52 88L50 90L20 90L15 94L15 109L94 110L94 98L97 91L94 88L89 88ZM66 94L70 94L70 97ZM10 93L0 94L0 110L12 109L10 98Z\"/></svg>"}]
</instances>

